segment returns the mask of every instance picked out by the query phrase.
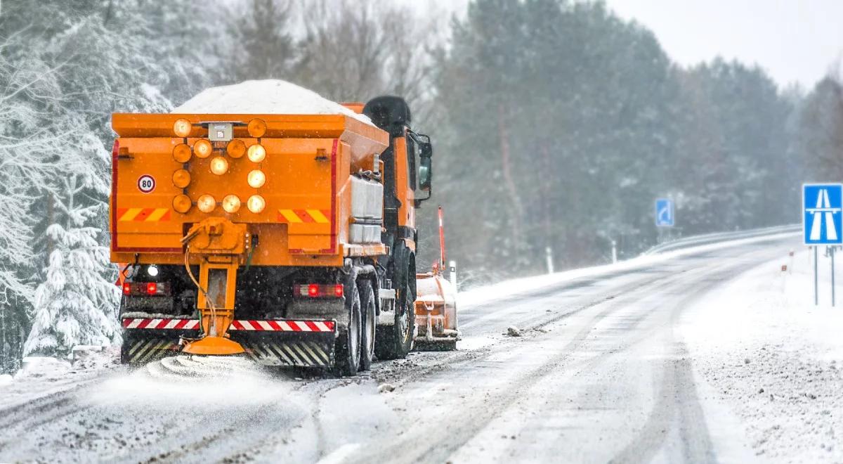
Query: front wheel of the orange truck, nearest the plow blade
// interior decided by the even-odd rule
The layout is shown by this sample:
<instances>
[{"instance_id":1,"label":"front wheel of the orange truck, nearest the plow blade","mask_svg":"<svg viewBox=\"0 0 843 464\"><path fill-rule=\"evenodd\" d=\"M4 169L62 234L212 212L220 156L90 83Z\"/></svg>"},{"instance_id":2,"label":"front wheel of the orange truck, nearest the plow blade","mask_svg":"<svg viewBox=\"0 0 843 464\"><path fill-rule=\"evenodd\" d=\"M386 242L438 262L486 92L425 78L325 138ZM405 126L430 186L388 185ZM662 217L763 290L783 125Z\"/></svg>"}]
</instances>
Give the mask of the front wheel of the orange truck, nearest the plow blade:
<instances>
[{"instance_id":1,"label":"front wheel of the orange truck, nearest the plow blade","mask_svg":"<svg viewBox=\"0 0 843 464\"><path fill-rule=\"evenodd\" d=\"M413 348L413 336L416 334L416 295L412 294L411 286L407 282L409 273L405 271L404 275L400 276L400 284L395 289L395 324L378 327L378 343L375 343L378 359L403 359ZM413 274L413 278L415 277Z\"/></svg>"}]
</instances>

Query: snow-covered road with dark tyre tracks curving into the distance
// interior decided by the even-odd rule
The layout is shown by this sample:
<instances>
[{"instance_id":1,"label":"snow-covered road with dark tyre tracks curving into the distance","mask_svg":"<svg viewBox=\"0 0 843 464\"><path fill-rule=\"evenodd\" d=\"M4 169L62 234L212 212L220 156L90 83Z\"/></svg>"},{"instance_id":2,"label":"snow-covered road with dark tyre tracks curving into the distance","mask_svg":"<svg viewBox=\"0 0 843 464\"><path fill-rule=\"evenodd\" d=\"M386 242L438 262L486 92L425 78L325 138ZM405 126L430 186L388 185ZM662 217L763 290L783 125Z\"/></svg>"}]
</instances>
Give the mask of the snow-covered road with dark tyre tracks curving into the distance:
<instances>
[{"instance_id":1,"label":"snow-covered road with dark tyre tracks curving into the distance","mask_svg":"<svg viewBox=\"0 0 843 464\"><path fill-rule=\"evenodd\" d=\"M0 400L0 461L840 461L833 431L821 449L795 440L765 454L753 421L780 424L776 414L792 410L748 415L742 406L758 400L732 390L749 381L735 372L749 358L717 359L706 348L717 324L734 332L724 289L734 293L735 279L793 248L792 236L703 247L473 299L459 308L459 351L413 353L355 379L185 358L171 368L190 364L210 376L118 367L42 393L34 387ZM748 298L733 311L751 306ZM760 349L766 342L749 325L757 321L738 320ZM521 336L508 336L510 326ZM798 349L790 349L797 358ZM829 427L840 424L840 371L809 380L813 391L830 391L812 393L829 404L809 415L816 409Z\"/></svg>"}]
</instances>

